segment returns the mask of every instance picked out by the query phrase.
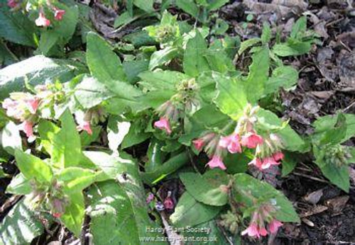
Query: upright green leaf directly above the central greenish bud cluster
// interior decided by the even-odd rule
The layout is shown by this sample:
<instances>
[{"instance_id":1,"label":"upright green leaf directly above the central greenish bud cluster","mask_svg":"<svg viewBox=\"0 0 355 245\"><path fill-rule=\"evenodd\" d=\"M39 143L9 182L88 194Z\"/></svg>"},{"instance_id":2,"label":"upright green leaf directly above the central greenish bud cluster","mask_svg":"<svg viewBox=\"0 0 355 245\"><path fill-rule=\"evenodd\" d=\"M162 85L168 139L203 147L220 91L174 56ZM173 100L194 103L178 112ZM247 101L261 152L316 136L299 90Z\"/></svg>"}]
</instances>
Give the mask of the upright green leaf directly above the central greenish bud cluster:
<instances>
[{"instance_id":1,"label":"upright green leaf directly above the central greenish bud cluster","mask_svg":"<svg viewBox=\"0 0 355 245\"><path fill-rule=\"evenodd\" d=\"M183 67L185 74L189 76L198 76L202 72L209 71L209 64L204 57L207 53L207 43L202 35L196 30L195 38L187 41Z\"/></svg>"}]
</instances>

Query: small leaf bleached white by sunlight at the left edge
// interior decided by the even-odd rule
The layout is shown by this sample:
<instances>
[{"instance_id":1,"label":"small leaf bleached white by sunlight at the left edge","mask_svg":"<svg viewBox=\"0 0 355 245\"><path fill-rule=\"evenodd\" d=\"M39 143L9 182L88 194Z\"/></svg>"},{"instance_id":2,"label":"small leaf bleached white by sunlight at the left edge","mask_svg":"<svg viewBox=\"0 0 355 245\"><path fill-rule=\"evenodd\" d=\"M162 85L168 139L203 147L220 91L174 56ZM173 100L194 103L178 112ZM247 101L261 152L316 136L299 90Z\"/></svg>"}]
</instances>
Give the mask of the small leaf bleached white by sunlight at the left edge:
<instances>
[{"instance_id":1,"label":"small leaf bleached white by sunlight at the left edge","mask_svg":"<svg viewBox=\"0 0 355 245\"><path fill-rule=\"evenodd\" d=\"M16 149L22 149L20 132L15 123L9 122L0 132L1 147L6 152L13 155Z\"/></svg>"}]
</instances>

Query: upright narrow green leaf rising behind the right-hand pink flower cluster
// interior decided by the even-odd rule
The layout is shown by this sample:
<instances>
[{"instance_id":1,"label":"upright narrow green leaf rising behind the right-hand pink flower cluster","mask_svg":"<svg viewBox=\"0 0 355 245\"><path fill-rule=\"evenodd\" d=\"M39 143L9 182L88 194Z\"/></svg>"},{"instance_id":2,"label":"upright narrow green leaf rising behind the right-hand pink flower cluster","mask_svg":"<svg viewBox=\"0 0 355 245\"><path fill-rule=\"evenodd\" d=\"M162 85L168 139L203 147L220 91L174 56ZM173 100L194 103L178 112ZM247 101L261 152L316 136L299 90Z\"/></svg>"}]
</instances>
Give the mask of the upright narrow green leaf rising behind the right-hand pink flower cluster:
<instances>
[{"instance_id":1,"label":"upright narrow green leaf rising behind the right-hand pink flower cluster","mask_svg":"<svg viewBox=\"0 0 355 245\"><path fill-rule=\"evenodd\" d=\"M249 75L244 84L244 91L249 103L256 103L262 96L268 80L270 63L269 50L263 47L259 52L252 55L253 62L249 67Z\"/></svg>"}]
</instances>

